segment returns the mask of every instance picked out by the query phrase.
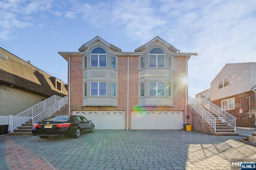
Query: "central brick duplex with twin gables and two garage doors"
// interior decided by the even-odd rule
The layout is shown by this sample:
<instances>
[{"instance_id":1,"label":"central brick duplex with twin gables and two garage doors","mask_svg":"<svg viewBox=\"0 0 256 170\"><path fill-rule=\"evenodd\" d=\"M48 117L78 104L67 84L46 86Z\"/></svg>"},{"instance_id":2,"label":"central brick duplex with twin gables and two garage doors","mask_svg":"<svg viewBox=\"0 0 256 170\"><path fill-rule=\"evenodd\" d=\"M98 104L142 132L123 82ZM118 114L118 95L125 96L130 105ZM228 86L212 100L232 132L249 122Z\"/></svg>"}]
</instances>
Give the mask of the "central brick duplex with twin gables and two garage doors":
<instances>
[{"instance_id":1,"label":"central brick duplex with twin gables and two garage doors","mask_svg":"<svg viewBox=\"0 0 256 170\"><path fill-rule=\"evenodd\" d=\"M191 55L159 37L122 52L96 36L78 52L58 52L68 61L70 113L96 129L182 129L187 65Z\"/></svg>"}]
</instances>

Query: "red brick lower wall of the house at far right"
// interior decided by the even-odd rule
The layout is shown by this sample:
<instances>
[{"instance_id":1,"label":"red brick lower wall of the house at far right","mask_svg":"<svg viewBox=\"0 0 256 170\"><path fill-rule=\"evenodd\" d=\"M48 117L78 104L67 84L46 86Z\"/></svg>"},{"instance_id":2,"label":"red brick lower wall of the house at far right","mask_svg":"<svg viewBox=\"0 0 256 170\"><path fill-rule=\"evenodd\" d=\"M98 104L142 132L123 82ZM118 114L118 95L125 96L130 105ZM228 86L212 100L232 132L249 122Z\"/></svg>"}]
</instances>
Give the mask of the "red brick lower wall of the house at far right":
<instances>
[{"instance_id":1,"label":"red brick lower wall of the house at far right","mask_svg":"<svg viewBox=\"0 0 256 170\"><path fill-rule=\"evenodd\" d=\"M250 99L246 99L246 97L250 96ZM253 91L249 91L246 93L241 93L239 95L234 95L230 97L226 97L224 99L229 99L235 97L235 109L234 110L227 110L226 112L230 113L234 117L236 117L236 127L250 127L254 128L255 125L255 116L252 117L246 117L246 113L252 109L255 109L255 96ZM215 105L221 107L221 100L219 99L216 101L212 101ZM249 102L250 101L250 102ZM250 107L249 107L250 103ZM240 108L243 109L242 113L239 113Z\"/></svg>"}]
</instances>

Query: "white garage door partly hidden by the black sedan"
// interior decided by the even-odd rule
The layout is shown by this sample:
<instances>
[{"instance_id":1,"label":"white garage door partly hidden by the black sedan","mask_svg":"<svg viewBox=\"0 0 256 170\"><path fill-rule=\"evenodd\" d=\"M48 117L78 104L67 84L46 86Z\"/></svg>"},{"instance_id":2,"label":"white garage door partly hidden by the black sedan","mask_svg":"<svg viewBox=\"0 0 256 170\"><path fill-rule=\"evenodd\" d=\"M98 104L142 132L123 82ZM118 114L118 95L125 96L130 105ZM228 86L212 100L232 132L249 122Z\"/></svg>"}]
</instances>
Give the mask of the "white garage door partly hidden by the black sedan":
<instances>
[{"instance_id":1,"label":"white garage door partly hidden by the black sedan","mask_svg":"<svg viewBox=\"0 0 256 170\"><path fill-rule=\"evenodd\" d=\"M124 129L124 111L73 111L73 115L81 115L91 120L95 129Z\"/></svg>"}]
</instances>

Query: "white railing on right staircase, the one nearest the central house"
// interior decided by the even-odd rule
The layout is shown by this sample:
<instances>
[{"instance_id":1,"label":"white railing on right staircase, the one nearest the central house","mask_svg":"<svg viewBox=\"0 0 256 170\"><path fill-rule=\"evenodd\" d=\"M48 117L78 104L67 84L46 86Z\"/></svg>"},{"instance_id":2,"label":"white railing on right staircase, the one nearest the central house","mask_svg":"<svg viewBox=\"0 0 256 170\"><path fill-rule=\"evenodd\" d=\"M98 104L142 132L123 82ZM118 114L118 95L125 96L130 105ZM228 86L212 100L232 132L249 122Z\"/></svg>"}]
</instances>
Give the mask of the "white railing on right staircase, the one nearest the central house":
<instances>
[{"instance_id":1,"label":"white railing on right staircase, the one nearest the central house","mask_svg":"<svg viewBox=\"0 0 256 170\"><path fill-rule=\"evenodd\" d=\"M204 107L202 107L191 97L188 97L188 104L192 106L195 111L197 111L202 116L202 119L205 119L205 121L208 122L212 126L212 128L214 128L214 132L216 133L216 117L214 117L210 112L204 109Z\"/></svg>"}]
</instances>

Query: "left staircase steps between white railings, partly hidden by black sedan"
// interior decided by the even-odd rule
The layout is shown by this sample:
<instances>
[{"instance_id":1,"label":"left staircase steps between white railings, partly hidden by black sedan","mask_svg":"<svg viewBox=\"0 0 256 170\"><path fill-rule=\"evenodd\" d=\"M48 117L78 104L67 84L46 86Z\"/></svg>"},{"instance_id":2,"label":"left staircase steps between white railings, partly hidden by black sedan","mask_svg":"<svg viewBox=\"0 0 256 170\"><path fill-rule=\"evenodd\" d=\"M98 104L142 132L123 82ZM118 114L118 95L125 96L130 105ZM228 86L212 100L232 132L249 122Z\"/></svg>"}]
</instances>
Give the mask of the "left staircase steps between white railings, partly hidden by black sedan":
<instances>
[{"instance_id":1,"label":"left staircase steps between white railings, partly hidden by black sedan","mask_svg":"<svg viewBox=\"0 0 256 170\"><path fill-rule=\"evenodd\" d=\"M54 106L54 104L52 106ZM60 106L62 106L62 105L60 105ZM45 110L47 111L49 109L51 109L51 106L47 107ZM54 108L54 109L56 109L56 108ZM44 111L41 111L40 113L44 114ZM37 115L40 115L40 113L38 113ZM68 105L66 104L66 105L62 106L57 111L55 111L52 115L68 115ZM45 117L45 114L44 114L44 117ZM42 117L42 119L45 119L44 117ZM46 116L46 117L49 117L49 116ZM22 136L32 135L31 128L32 128L32 124L33 124L33 118L34 117L31 117L31 119L24 121L23 123L20 124L20 126L14 128L13 132L8 132L8 134L9 135L22 135Z\"/></svg>"}]
</instances>

